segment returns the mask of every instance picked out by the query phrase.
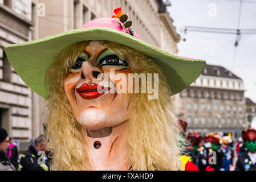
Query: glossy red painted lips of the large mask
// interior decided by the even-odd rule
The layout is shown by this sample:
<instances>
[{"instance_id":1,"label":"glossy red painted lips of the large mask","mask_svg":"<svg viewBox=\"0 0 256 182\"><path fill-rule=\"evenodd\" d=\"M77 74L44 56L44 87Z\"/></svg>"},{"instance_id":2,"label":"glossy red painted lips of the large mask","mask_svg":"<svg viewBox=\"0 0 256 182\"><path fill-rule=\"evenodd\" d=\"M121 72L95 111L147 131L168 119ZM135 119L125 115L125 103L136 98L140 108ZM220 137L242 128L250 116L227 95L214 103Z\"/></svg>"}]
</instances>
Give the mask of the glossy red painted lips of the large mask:
<instances>
[{"instance_id":1,"label":"glossy red painted lips of the large mask","mask_svg":"<svg viewBox=\"0 0 256 182\"><path fill-rule=\"evenodd\" d=\"M100 88L99 93L97 88ZM76 89L76 93L79 94L85 100L92 100L98 98L105 94L105 91L108 91L110 88L104 88L104 86L98 86L98 84L92 83L90 85L84 83L82 86Z\"/></svg>"}]
</instances>

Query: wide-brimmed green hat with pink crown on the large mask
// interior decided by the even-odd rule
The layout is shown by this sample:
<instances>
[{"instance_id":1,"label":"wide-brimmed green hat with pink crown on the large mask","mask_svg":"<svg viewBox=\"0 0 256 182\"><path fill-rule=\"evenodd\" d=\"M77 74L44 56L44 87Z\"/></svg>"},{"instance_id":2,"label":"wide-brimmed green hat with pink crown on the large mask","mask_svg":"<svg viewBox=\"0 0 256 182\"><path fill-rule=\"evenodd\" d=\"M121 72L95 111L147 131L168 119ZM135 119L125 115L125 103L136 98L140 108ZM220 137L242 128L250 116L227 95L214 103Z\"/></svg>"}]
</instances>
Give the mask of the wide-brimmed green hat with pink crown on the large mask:
<instances>
[{"instance_id":1,"label":"wide-brimmed green hat with pink crown on the large mask","mask_svg":"<svg viewBox=\"0 0 256 182\"><path fill-rule=\"evenodd\" d=\"M82 28L48 36L32 42L5 47L6 56L14 70L35 93L47 96L44 75L53 58L67 46L84 40L108 40L137 49L148 55L162 68L172 95L181 92L200 76L205 60L172 55L139 39L134 30L128 33L115 18L99 18Z\"/></svg>"}]
</instances>

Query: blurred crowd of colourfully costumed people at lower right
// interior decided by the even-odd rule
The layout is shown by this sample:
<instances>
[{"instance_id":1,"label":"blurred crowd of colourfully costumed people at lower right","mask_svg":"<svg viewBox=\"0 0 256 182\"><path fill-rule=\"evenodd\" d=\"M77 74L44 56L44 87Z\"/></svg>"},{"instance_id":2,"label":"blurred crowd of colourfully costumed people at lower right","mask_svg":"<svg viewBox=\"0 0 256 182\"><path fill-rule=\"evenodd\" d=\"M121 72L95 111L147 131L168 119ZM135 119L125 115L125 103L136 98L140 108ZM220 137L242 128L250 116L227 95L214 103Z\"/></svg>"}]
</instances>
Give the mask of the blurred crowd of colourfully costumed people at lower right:
<instances>
[{"instance_id":1,"label":"blurred crowd of colourfully costumed people at lower right","mask_svg":"<svg viewBox=\"0 0 256 182\"><path fill-rule=\"evenodd\" d=\"M256 130L242 131L242 137L235 140L231 134L200 134L197 131L186 134L186 122L182 121L184 138L188 140L184 159L193 162L200 171L210 166L214 171L256 171ZM235 141L234 141L235 140Z\"/></svg>"}]
</instances>

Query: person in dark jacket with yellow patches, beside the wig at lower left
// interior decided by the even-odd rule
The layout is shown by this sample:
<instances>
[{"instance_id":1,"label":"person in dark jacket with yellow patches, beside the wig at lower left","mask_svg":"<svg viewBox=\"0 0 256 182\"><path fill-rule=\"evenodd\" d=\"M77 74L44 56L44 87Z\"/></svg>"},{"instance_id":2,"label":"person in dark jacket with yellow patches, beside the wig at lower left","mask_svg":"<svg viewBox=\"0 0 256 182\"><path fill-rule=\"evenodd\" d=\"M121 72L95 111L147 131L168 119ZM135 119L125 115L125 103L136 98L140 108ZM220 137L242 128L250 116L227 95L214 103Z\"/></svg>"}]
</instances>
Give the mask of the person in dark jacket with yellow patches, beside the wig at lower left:
<instances>
[{"instance_id":1,"label":"person in dark jacket with yellow patches, beside the wig at lower left","mask_svg":"<svg viewBox=\"0 0 256 182\"><path fill-rule=\"evenodd\" d=\"M43 154L39 154L39 151L43 151ZM20 171L48 171L50 165L48 164L48 159L46 152L46 143L44 141L43 135L39 135L38 138L32 138L30 140L29 150L26 151L19 163ZM40 159L39 159L40 158ZM43 162L44 163L40 163Z\"/></svg>"}]
</instances>

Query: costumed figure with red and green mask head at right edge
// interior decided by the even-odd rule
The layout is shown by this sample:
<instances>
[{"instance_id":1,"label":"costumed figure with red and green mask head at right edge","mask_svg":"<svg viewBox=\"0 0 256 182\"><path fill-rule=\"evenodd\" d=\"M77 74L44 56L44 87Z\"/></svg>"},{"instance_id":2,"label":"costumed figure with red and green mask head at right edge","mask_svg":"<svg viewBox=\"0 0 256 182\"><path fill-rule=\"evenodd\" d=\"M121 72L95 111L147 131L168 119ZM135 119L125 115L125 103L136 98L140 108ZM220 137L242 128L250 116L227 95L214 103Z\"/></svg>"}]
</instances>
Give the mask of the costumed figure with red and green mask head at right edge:
<instances>
[{"instance_id":1,"label":"costumed figure with red and green mask head at right edge","mask_svg":"<svg viewBox=\"0 0 256 182\"><path fill-rule=\"evenodd\" d=\"M235 171L256 171L256 130L243 130L242 139L247 151L241 152L238 156Z\"/></svg>"}]
</instances>

